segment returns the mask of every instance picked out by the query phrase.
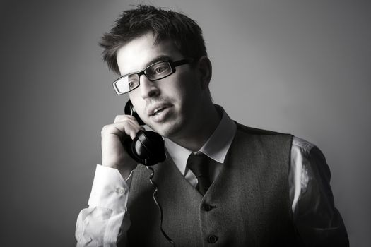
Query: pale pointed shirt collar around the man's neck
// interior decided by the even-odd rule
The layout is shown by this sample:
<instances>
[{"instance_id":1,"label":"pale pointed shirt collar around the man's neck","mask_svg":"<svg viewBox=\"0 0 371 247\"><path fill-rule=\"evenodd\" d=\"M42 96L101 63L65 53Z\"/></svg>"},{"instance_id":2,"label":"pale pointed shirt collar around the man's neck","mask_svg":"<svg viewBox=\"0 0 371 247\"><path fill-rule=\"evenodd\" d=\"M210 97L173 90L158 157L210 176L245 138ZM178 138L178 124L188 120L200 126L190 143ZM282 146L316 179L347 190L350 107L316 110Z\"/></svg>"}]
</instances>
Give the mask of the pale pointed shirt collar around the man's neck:
<instances>
[{"instance_id":1,"label":"pale pointed shirt collar around the man's neck","mask_svg":"<svg viewBox=\"0 0 371 247\"><path fill-rule=\"evenodd\" d=\"M218 112L222 114L222 118L218 127L216 127L216 130L197 152L202 152L216 162L223 164L225 156L227 155L235 136L237 126L224 111L223 107L220 107L219 105L215 106ZM172 157L172 160L179 171L184 175L187 166L187 159L192 151L177 145L177 143L172 142L170 139L165 138L164 140L168 154Z\"/></svg>"}]
</instances>

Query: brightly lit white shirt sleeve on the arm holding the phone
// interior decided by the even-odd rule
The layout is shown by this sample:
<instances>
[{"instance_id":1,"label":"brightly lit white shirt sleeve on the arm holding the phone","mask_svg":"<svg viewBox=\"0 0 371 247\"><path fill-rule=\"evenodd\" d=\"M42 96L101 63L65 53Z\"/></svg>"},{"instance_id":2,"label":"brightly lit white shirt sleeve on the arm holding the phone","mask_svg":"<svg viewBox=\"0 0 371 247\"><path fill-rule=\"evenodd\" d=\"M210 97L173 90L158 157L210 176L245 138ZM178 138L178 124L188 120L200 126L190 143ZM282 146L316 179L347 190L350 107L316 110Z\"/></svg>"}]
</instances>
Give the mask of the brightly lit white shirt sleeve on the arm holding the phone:
<instances>
[{"instance_id":1,"label":"brightly lit white shirt sleeve on the arm holding the phone","mask_svg":"<svg viewBox=\"0 0 371 247\"><path fill-rule=\"evenodd\" d=\"M76 246L117 246L119 234L122 241L126 239L130 181L131 176L124 181L117 169L97 165L89 207L81 210L77 218Z\"/></svg>"}]
</instances>

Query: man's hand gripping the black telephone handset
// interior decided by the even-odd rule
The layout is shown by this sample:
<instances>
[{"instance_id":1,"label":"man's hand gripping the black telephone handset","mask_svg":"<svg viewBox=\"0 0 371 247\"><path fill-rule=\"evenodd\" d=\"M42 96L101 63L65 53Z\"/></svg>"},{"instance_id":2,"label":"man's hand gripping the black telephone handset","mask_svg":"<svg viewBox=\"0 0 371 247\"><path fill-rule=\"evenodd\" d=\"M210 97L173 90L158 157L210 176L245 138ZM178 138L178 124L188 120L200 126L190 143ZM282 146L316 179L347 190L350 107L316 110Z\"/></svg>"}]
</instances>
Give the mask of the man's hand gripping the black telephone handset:
<instances>
[{"instance_id":1,"label":"man's hand gripping the black telephone handset","mask_svg":"<svg viewBox=\"0 0 371 247\"><path fill-rule=\"evenodd\" d=\"M134 116L117 115L114 123L102 128L102 166L118 169L124 179L138 164L126 152L122 139L128 135L134 139L138 131L144 130Z\"/></svg>"}]
</instances>

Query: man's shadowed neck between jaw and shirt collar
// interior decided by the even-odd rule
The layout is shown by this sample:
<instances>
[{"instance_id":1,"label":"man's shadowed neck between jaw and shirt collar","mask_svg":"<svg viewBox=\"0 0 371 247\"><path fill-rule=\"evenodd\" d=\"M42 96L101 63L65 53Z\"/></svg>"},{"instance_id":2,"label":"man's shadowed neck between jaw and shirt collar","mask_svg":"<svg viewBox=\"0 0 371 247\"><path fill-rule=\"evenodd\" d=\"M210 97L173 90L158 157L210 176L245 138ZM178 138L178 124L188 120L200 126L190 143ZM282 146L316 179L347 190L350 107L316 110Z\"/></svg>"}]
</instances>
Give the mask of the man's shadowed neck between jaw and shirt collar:
<instances>
[{"instance_id":1,"label":"man's shadowed neck between jaw and shirt collar","mask_svg":"<svg viewBox=\"0 0 371 247\"><path fill-rule=\"evenodd\" d=\"M199 112L199 124L184 135L170 138L170 140L193 152L200 150L216 130L221 119L221 114L218 114L212 102L208 107L203 108L204 110Z\"/></svg>"}]
</instances>

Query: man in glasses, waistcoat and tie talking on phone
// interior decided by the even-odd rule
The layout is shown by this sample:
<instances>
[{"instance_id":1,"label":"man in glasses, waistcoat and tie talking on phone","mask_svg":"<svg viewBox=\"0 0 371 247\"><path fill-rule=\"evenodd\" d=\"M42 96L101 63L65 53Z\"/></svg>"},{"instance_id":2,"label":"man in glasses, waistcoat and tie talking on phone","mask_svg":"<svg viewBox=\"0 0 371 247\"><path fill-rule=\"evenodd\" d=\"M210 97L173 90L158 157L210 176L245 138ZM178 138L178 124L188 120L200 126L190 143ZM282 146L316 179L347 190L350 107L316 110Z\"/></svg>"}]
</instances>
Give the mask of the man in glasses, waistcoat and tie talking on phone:
<instances>
[{"instance_id":1,"label":"man in glasses, waistcoat and tie talking on phone","mask_svg":"<svg viewBox=\"0 0 371 247\"><path fill-rule=\"evenodd\" d=\"M151 174L129 155L122 140L143 131L134 116L103 127L78 246L348 246L322 152L292 135L242 126L213 104L211 62L193 20L139 6L101 45L122 75L116 91L129 93L141 120L163 136L166 159Z\"/></svg>"}]
</instances>

